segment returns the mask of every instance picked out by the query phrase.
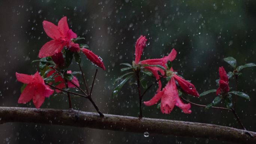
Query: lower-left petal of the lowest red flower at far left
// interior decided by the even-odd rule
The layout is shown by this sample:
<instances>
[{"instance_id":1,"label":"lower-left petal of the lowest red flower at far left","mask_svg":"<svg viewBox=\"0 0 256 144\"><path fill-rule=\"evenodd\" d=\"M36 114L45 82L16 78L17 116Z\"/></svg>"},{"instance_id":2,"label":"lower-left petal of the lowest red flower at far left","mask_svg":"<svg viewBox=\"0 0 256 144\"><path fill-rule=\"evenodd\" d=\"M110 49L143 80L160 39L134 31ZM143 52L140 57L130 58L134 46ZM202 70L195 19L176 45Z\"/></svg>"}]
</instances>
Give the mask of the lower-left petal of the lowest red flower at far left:
<instances>
[{"instance_id":1,"label":"lower-left petal of the lowest red flower at far left","mask_svg":"<svg viewBox=\"0 0 256 144\"><path fill-rule=\"evenodd\" d=\"M34 96L34 85L28 84L19 96L18 103L25 104L29 102Z\"/></svg>"}]
</instances>

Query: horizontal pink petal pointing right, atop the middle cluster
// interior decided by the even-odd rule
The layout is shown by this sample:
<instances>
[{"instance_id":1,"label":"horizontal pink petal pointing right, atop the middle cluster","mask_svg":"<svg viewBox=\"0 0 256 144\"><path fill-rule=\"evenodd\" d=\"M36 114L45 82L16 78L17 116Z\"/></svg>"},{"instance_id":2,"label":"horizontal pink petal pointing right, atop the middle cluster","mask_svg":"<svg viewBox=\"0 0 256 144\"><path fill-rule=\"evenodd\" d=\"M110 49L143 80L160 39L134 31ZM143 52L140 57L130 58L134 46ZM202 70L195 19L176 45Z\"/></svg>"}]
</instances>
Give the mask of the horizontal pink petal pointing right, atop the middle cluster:
<instances>
[{"instance_id":1,"label":"horizontal pink petal pointing right, atop the middle cluster","mask_svg":"<svg viewBox=\"0 0 256 144\"><path fill-rule=\"evenodd\" d=\"M168 61L173 61L176 58L177 52L175 49L172 49L168 56L165 56L164 58L158 58L158 59L147 59L143 60L140 63L141 64L149 64L149 65L162 65L166 68L166 65Z\"/></svg>"}]
</instances>

